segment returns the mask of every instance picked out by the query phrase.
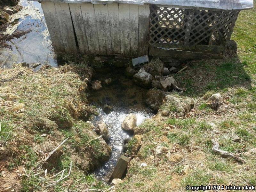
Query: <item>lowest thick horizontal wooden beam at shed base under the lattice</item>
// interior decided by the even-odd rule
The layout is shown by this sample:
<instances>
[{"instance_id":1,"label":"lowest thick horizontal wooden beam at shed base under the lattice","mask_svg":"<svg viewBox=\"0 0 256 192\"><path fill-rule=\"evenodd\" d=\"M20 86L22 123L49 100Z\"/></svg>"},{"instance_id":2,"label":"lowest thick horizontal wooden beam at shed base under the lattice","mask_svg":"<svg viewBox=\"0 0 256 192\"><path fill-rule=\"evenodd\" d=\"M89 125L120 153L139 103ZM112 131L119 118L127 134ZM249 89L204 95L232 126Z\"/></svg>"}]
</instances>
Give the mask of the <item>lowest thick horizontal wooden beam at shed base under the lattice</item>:
<instances>
[{"instance_id":1,"label":"lowest thick horizontal wooden beam at shed base under the lattice","mask_svg":"<svg viewBox=\"0 0 256 192\"><path fill-rule=\"evenodd\" d=\"M201 60L201 59L222 59L224 56L222 54L212 54L206 52L190 52L190 51L178 51L172 49L163 49L158 47L149 47L149 55L172 57L172 58L186 58L188 60Z\"/></svg>"}]
</instances>

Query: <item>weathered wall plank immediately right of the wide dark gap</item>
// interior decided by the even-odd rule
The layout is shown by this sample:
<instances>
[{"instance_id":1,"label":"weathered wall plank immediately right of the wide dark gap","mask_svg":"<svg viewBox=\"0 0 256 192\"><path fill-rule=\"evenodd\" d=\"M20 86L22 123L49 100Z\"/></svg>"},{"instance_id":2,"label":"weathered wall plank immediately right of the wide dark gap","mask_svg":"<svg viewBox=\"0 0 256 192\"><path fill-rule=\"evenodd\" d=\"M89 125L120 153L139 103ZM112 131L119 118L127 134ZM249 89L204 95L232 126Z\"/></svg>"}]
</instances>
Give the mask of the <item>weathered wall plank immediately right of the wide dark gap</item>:
<instances>
[{"instance_id":1,"label":"weathered wall plank immediately right of the wide dark gap","mask_svg":"<svg viewBox=\"0 0 256 192\"><path fill-rule=\"evenodd\" d=\"M83 54L89 54L88 42L86 37L86 30L84 27L83 15L81 12L80 4L69 4L74 28L76 31L76 38L79 46L79 50Z\"/></svg>"}]
</instances>

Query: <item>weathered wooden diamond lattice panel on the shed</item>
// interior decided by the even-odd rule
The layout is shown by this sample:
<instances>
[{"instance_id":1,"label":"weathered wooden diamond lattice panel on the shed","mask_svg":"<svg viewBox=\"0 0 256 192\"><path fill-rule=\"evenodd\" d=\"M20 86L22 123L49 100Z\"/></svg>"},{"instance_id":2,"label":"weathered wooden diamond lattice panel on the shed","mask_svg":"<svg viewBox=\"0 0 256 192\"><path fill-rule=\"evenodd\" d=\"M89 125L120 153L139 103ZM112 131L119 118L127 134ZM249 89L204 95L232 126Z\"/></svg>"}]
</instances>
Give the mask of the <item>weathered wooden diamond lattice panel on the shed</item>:
<instances>
[{"instance_id":1,"label":"weathered wooden diamond lattice panel on the shed","mask_svg":"<svg viewBox=\"0 0 256 192\"><path fill-rule=\"evenodd\" d=\"M209 11L151 5L149 44L165 47L225 46L239 11Z\"/></svg>"}]
</instances>

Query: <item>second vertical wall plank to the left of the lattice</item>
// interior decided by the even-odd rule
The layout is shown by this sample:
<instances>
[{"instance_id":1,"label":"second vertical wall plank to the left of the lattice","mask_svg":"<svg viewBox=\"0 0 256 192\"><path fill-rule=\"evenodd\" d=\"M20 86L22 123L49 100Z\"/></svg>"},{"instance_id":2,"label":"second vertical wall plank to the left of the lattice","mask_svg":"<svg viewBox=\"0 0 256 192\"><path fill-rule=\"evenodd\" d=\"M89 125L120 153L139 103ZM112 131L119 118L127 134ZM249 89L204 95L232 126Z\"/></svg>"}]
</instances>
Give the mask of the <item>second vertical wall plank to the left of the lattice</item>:
<instances>
[{"instance_id":1,"label":"second vertical wall plank to the left of the lattice","mask_svg":"<svg viewBox=\"0 0 256 192\"><path fill-rule=\"evenodd\" d=\"M130 4L130 35L131 51L130 56L138 57L139 40L139 5Z\"/></svg>"}]
</instances>

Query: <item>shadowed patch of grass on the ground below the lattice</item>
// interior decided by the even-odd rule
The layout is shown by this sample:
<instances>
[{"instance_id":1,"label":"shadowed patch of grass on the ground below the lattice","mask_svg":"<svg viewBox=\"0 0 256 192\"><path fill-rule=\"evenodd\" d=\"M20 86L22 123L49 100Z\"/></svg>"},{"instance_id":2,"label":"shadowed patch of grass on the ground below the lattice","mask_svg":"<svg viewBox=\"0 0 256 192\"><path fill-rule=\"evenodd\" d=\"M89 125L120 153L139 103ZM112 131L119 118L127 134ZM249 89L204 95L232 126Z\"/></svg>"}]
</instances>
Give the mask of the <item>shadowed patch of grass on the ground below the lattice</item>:
<instances>
[{"instance_id":1,"label":"shadowed patch of grass on the ground below the lattice","mask_svg":"<svg viewBox=\"0 0 256 192\"><path fill-rule=\"evenodd\" d=\"M238 58L224 60L202 60L189 64L188 70L173 77L179 86L185 88L185 95L202 96L207 91L225 91L231 87L251 89L246 62Z\"/></svg>"}]
</instances>

